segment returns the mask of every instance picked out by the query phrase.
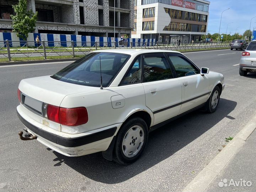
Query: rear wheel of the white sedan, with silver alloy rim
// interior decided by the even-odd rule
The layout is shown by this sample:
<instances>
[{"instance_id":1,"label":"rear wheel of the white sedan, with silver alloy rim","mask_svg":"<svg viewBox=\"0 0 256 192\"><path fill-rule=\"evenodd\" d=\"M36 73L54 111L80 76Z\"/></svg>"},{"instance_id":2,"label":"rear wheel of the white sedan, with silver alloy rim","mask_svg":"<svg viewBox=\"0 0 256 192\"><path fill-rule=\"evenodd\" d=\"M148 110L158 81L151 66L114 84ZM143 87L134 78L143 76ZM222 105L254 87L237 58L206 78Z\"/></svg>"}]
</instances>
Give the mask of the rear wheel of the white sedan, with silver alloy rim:
<instances>
[{"instance_id":1,"label":"rear wheel of the white sedan, with silver alloy rim","mask_svg":"<svg viewBox=\"0 0 256 192\"><path fill-rule=\"evenodd\" d=\"M139 117L129 119L120 128L113 151L113 160L129 165L139 159L148 141L148 126Z\"/></svg>"}]
</instances>

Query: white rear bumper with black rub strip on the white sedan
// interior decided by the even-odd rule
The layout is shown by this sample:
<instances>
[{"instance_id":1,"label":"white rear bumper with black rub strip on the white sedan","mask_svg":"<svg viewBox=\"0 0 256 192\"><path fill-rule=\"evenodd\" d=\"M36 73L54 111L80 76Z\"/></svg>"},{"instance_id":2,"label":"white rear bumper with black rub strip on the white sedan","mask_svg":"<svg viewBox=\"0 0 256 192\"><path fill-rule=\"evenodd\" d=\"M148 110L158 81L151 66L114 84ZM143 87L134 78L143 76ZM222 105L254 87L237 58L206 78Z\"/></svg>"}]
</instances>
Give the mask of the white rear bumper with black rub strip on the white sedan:
<instances>
[{"instance_id":1,"label":"white rear bumper with black rub strip on the white sedan","mask_svg":"<svg viewBox=\"0 0 256 192\"><path fill-rule=\"evenodd\" d=\"M36 136L40 143L66 156L82 156L107 150L114 135L116 135L117 129L121 126L121 124L116 124L105 130L99 129L98 131L96 130L96 132L94 130L94 132L88 133L82 137L73 136L71 138L62 137L34 126L23 118L18 110L17 115L27 128L28 133Z\"/></svg>"}]
</instances>

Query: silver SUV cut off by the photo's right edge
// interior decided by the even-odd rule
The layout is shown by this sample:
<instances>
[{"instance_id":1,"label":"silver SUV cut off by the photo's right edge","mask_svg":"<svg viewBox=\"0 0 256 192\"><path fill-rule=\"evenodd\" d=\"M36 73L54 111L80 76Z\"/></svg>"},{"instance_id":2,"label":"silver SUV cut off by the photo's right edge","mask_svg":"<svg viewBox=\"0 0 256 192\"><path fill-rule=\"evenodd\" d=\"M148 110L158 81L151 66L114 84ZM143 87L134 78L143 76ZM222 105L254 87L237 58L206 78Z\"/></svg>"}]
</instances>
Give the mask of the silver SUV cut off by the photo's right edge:
<instances>
[{"instance_id":1,"label":"silver SUV cut off by the photo's right edge","mask_svg":"<svg viewBox=\"0 0 256 192\"><path fill-rule=\"evenodd\" d=\"M240 59L239 74L246 76L247 73L256 72L256 40L252 41Z\"/></svg>"}]
</instances>

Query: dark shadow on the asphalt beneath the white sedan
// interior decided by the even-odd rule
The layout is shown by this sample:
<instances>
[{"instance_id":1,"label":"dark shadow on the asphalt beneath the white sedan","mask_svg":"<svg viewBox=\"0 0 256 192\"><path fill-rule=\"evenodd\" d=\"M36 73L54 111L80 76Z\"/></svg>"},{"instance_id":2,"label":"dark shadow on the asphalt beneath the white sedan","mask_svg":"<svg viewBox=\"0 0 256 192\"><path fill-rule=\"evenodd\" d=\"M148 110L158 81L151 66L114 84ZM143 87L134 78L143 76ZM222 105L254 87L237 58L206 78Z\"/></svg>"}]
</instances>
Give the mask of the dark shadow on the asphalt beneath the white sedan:
<instances>
[{"instance_id":1,"label":"dark shadow on the asphalt beneath the white sedan","mask_svg":"<svg viewBox=\"0 0 256 192\"><path fill-rule=\"evenodd\" d=\"M101 153L71 158L53 151L57 156L53 160L56 162L54 166L61 166L64 163L97 182L114 184L126 181L169 158L223 118L235 119L228 114L236 105L234 101L220 98L219 108L215 113L209 114L197 110L156 129L149 134L148 144L142 157L131 165L122 166L107 161Z\"/></svg>"}]
</instances>

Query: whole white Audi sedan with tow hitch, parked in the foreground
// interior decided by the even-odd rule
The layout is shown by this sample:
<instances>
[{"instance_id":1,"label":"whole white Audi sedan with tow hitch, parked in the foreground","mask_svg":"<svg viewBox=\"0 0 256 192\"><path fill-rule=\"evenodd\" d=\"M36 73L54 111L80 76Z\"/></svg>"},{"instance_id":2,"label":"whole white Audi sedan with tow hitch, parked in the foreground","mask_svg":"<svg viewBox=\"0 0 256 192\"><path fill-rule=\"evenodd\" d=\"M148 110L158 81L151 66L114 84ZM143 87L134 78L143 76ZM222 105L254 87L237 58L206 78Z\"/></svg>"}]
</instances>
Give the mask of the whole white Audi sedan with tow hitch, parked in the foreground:
<instances>
[{"instance_id":1,"label":"whole white Audi sedan with tow hitch, parked in the foreground","mask_svg":"<svg viewBox=\"0 0 256 192\"><path fill-rule=\"evenodd\" d=\"M54 75L20 82L17 114L27 133L19 135L66 156L102 151L130 164L150 131L198 108L215 112L224 87L222 74L180 52L98 50Z\"/></svg>"}]
</instances>

